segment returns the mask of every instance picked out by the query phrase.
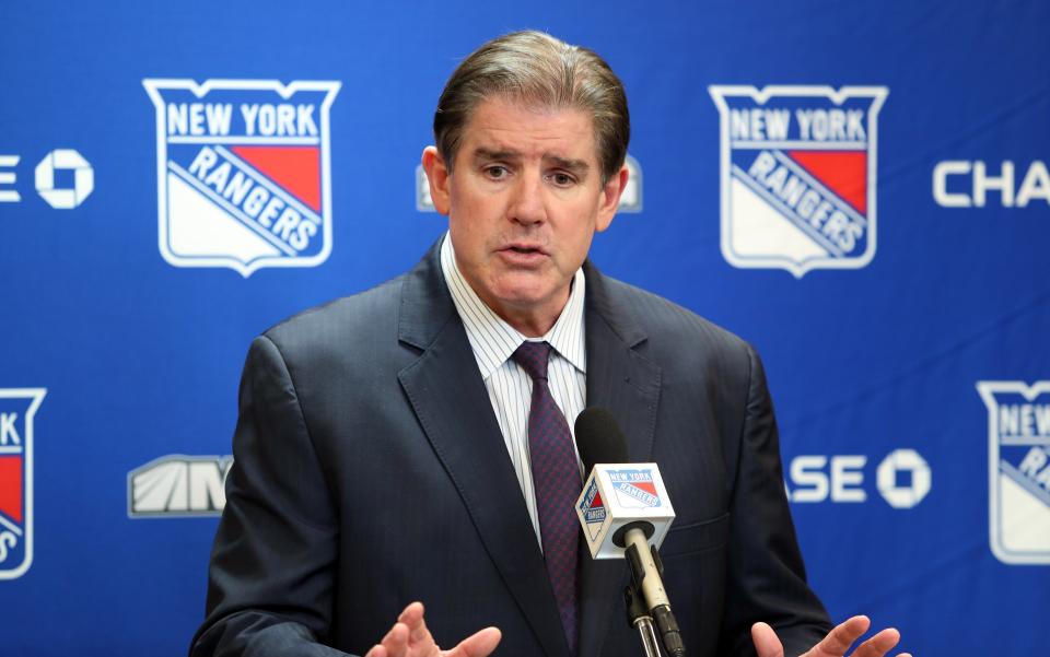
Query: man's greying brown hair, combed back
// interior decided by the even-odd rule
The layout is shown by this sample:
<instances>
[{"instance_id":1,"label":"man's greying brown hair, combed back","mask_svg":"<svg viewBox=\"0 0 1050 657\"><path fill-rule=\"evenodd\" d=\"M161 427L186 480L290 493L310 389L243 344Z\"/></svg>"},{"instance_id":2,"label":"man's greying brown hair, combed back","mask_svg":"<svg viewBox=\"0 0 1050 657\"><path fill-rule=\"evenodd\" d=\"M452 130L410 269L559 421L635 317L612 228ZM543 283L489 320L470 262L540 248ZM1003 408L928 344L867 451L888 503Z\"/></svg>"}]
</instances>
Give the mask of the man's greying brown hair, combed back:
<instances>
[{"instance_id":1,"label":"man's greying brown hair, combed back","mask_svg":"<svg viewBox=\"0 0 1050 657\"><path fill-rule=\"evenodd\" d=\"M593 50L527 31L497 37L471 52L448 78L434 112L434 140L450 169L474 109L492 96L586 112L594 122L603 184L623 166L631 138L627 94Z\"/></svg>"}]
</instances>

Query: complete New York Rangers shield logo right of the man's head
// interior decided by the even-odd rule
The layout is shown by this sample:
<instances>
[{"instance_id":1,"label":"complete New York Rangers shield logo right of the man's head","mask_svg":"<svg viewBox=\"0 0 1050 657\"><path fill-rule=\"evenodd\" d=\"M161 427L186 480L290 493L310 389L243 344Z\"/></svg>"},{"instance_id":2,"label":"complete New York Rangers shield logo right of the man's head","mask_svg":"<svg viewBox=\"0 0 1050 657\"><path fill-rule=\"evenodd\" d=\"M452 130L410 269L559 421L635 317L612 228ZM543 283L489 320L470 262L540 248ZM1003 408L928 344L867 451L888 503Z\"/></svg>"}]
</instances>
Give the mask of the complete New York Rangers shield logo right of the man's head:
<instances>
[{"instance_id":1,"label":"complete New York Rangers shield logo right of the man's head","mask_svg":"<svg viewBox=\"0 0 1050 657\"><path fill-rule=\"evenodd\" d=\"M859 269L875 256L885 86L710 87L721 115L722 255L734 267Z\"/></svg>"}]
</instances>

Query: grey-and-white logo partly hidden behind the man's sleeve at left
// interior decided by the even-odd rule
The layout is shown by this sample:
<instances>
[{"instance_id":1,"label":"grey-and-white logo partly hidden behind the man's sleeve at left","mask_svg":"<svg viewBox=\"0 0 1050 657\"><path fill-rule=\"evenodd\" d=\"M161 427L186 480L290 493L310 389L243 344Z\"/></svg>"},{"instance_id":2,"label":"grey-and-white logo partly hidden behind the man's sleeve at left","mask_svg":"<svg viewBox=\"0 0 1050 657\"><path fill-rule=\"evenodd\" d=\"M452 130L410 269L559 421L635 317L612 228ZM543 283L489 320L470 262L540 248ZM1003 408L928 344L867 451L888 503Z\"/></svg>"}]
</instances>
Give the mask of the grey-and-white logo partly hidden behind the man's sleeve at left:
<instances>
[{"instance_id":1,"label":"grey-and-white logo partly hidden behind the man's sleeve at left","mask_svg":"<svg viewBox=\"0 0 1050 657\"><path fill-rule=\"evenodd\" d=\"M218 516L226 505L229 456L173 454L128 472L128 517Z\"/></svg>"}]
</instances>

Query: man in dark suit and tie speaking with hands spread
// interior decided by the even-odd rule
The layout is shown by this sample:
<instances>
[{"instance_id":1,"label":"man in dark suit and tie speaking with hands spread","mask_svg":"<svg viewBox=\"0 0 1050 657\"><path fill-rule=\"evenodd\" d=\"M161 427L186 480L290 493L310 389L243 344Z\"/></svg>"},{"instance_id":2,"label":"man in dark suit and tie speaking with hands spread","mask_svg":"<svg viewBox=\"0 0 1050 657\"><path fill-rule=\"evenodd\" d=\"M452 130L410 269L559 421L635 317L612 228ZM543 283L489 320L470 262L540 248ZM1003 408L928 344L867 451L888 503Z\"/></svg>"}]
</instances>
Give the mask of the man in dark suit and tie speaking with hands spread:
<instances>
[{"instance_id":1,"label":"man in dark suit and tie speaking with hands spread","mask_svg":"<svg viewBox=\"0 0 1050 657\"><path fill-rule=\"evenodd\" d=\"M625 564L581 559L567 520L584 406L661 465L690 655L843 655L867 630L828 634L806 586L755 352L585 262L629 132L590 50L515 33L457 68L423 152L447 235L406 275L252 345L191 654L640 654Z\"/></svg>"}]
</instances>

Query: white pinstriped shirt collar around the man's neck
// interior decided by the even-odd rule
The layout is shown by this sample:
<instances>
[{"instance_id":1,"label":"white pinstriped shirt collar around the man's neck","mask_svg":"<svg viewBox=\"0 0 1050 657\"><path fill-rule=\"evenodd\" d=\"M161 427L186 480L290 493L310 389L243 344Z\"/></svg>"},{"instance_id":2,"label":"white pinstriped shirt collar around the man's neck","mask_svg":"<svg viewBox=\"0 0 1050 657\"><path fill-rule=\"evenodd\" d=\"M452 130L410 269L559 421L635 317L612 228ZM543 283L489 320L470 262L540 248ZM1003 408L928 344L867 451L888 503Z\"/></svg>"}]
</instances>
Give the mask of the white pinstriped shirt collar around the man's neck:
<instances>
[{"instance_id":1,"label":"white pinstriped shirt collar around the man's neck","mask_svg":"<svg viewBox=\"0 0 1050 657\"><path fill-rule=\"evenodd\" d=\"M456 312L467 331L467 339L478 361L481 376L488 378L511 357L522 342L530 340L504 321L487 306L478 293L463 278L456 263L456 251L448 233L441 245L441 270L452 293ZM555 326L541 338L555 348L573 367L586 374L587 352L584 337L583 297L586 282L583 269L578 269L572 279L569 302L555 321Z\"/></svg>"}]
</instances>

